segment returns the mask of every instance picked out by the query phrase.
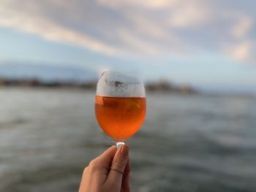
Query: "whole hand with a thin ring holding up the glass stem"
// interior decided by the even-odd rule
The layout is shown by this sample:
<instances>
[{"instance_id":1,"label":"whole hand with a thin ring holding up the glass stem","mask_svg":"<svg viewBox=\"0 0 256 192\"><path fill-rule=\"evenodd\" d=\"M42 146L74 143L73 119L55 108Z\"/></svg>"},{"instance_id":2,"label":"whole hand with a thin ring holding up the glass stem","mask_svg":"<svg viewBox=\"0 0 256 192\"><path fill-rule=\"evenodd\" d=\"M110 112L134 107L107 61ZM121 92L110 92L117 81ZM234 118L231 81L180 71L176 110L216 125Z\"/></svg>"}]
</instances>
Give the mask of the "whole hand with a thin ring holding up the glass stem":
<instances>
[{"instance_id":1,"label":"whole hand with a thin ring holding up the glass stem","mask_svg":"<svg viewBox=\"0 0 256 192\"><path fill-rule=\"evenodd\" d=\"M110 147L83 171L79 192L129 192L129 147Z\"/></svg>"}]
</instances>

